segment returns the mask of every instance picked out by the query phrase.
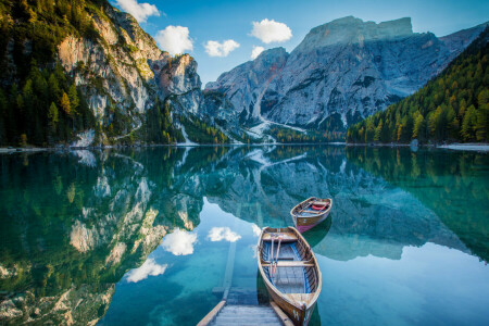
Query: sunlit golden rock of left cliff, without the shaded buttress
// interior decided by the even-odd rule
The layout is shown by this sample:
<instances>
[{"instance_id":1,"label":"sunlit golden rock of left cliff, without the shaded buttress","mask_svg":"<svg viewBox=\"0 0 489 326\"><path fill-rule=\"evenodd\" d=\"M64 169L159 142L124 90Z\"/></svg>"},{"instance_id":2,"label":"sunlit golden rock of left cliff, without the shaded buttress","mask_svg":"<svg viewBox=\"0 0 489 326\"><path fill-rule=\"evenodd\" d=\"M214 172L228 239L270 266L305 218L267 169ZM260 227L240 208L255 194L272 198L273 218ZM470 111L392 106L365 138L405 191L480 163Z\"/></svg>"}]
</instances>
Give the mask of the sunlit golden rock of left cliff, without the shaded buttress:
<instances>
[{"instance_id":1,"label":"sunlit golden rock of left cliff, without the shaded buttress","mask_svg":"<svg viewBox=\"0 0 489 326\"><path fill-rule=\"evenodd\" d=\"M91 20L100 39L68 36L58 48L59 58L83 87L96 116L105 114L110 99L135 118L134 113L151 106L151 96L156 89L152 62L164 64L170 55L158 48L129 14L104 7L103 15L93 13ZM100 85L93 85L93 80Z\"/></svg>"}]
</instances>

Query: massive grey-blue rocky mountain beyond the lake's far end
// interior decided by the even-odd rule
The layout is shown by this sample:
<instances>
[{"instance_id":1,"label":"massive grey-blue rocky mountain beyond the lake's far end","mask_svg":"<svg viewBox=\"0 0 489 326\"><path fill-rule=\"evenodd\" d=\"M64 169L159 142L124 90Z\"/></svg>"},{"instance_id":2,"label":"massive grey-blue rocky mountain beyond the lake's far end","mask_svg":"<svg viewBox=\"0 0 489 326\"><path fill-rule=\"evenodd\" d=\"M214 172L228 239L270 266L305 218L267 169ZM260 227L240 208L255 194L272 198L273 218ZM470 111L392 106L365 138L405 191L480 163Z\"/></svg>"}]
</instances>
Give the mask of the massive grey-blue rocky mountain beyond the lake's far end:
<instances>
[{"instance_id":1,"label":"massive grey-blue rocky mountain beyond the lake's far end","mask_svg":"<svg viewBox=\"0 0 489 326\"><path fill-rule=\"evenodd\" d=\"M264 51L206 90L223 91L248 124L344 128L421 88L482 28L437 38L413 33L410 18L349 16L311 29L290 54Z\"/></svg>"}]
</instances>

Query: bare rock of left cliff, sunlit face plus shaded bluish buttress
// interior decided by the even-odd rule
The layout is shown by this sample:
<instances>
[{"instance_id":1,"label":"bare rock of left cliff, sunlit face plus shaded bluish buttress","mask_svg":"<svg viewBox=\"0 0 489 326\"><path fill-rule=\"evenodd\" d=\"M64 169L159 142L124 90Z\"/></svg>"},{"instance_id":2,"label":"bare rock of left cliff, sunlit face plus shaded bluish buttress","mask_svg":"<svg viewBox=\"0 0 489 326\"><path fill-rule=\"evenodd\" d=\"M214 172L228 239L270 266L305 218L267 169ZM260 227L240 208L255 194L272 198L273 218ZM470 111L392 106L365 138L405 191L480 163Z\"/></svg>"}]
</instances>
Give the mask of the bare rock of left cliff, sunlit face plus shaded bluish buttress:
<instances>
[{"instance_id":1,"label":"bare rock of left cliff, sunlit face plus shaded bluish buttress","mask_svg":"<svg viewBox=\"0 0 489 326\"><path fill-rule=\"evenodd\" d=\"M83 87L98 121L121 110L141 125L140 114L155 98L170 99L180 113L201 115L203 95L197 62L188 54L172 58L158 48L136 20L106 5L91 13L97 40L68 36L58 48L65 71Z\"/></svg>"}]
</instances>

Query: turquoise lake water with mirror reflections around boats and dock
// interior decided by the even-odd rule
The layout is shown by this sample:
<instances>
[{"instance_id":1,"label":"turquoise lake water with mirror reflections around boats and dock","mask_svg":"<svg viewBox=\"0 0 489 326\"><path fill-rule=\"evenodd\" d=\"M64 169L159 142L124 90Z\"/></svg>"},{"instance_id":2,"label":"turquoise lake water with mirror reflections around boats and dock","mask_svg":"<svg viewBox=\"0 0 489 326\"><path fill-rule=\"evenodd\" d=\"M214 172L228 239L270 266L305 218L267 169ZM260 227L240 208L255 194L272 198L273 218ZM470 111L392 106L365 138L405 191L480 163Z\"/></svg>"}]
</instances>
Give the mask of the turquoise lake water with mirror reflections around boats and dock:
<instances>
[{"instance_id":1,"label":"turquoise lake water with mirror reflections around boats and dock","mask_svg":"<svg viewBox=\"0 0 489 326\"><path fill-rule=\"evenodd\" d=\"M489 325L489 155L344 146L0 155L0 324L195 325L267 300L254 248L290 209L323 273L310 325ZM234 243L234 244L233 244Z\"/></svg>"}]
</instances>

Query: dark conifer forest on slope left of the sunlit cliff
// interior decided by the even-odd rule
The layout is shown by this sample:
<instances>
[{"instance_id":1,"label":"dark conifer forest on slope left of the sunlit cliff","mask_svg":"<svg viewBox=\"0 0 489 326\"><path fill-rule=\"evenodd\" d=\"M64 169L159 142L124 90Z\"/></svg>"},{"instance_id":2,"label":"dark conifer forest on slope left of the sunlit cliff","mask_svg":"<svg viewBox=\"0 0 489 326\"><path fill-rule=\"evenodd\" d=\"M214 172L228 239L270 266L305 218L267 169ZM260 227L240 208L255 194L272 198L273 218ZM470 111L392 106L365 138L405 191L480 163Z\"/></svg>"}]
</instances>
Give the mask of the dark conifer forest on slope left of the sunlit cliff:
<instances>
[{"instance_id":1,"label":"dark conifer forest on slope left of the sunlit cliff","mask_svg":"<svg viewBox=\"0 0 489 326\"><path fill-rule=\"evenodd\" d=\"M89 11L100 1L0 1L0 145L66 141L95 127L73 78L57 63L67 35L99 37Z\"/></svg>"}]
</instances>

